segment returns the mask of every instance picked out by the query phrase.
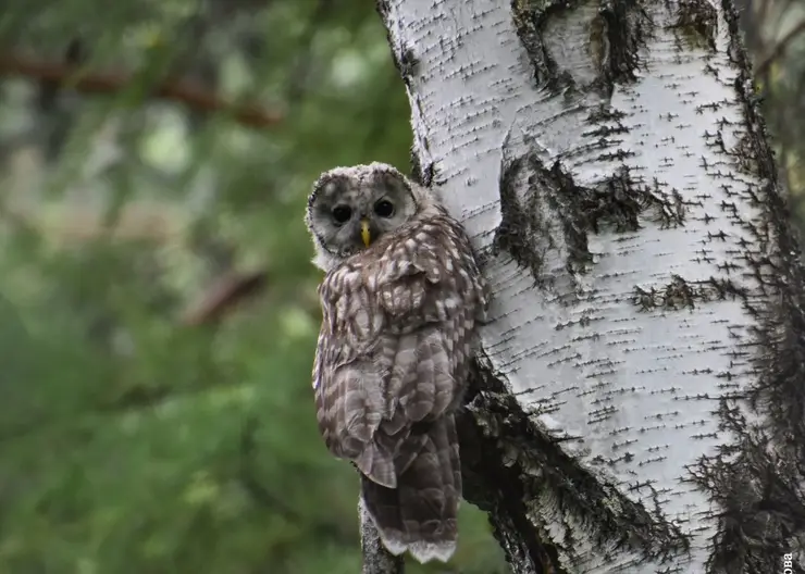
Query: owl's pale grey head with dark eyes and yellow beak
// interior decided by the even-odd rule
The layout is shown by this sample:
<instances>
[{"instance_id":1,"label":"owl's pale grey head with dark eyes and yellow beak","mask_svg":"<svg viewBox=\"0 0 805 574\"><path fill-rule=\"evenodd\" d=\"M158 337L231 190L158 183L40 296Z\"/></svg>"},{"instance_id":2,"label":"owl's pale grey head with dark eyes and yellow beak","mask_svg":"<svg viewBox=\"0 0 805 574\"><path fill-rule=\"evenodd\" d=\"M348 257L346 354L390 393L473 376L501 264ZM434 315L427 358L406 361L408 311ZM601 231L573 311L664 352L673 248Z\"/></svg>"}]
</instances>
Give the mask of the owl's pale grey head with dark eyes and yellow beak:
<instances>
[{"instance_id":1,"label":"owl's pale grey head with dark eyes and yellow beak","mask_svg":"<svg viewBox=\"0 0 805 574\"><path fill-rule=\"evenodd\" d=\"M330 271L407 223L426 201L423 188L384 163L323 173L305 216L315 245L313 262Z\"/></svg>"}]
</instances>

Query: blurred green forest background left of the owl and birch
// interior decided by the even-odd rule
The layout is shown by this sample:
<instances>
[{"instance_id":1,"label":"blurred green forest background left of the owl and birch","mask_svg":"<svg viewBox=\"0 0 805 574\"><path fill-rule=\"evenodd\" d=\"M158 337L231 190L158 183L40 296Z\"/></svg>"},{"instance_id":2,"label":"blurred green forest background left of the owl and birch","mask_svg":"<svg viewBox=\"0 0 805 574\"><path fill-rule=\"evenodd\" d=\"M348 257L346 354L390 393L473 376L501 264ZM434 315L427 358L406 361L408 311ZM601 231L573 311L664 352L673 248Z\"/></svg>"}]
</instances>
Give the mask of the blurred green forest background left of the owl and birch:
<instances>
[{"instance_id":1,"label":"blurred green forest background left of the owl and birch","mask_svg":"<svg viewBox=\"0 0 805 574\"><path fill-rule=\"evenodd\" d=\"M13 0L0 34L0 573L359 572L302 213L409 170L373 2ZM409 572L504 572L461 519Z\"/></svg>"}]
</instances>

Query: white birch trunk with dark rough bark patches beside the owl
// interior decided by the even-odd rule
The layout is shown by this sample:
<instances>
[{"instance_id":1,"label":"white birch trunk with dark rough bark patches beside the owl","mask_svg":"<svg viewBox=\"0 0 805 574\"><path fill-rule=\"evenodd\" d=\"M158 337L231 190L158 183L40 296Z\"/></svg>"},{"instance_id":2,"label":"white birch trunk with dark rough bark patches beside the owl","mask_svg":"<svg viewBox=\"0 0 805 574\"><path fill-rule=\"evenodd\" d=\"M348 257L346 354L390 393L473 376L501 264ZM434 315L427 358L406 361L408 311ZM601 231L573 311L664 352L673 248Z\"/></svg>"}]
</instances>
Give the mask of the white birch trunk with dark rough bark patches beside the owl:
<instances>
[{"instance_id":1,"label":"white birch trunk with dark rough bark patches beside the owl","mask_svg":"<svg viewBox=\"0 0 805 574\"><path fill-rule=\"evenodd\" d=\"M379 1L494 287L461 456L512 572L805 566L802 275L722 1Z\"/></svg>"}]
</instances>

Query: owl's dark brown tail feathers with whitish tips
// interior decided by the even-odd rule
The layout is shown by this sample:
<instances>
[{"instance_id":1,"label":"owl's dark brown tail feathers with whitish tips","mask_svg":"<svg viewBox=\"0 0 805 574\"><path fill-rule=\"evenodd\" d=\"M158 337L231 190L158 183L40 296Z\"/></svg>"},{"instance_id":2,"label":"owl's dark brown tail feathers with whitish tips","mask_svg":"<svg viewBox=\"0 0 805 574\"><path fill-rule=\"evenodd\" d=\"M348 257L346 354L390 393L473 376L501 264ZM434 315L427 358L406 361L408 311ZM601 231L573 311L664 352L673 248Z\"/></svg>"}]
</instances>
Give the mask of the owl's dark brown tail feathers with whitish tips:
<instances>
[{"instance_id":1,"label":"owl's dark brown tail feathers with whitish tips","mask_svg":"<svg viewBox=\"0 0 805 574\"><path fill-rule=\"evenodd\" d=\"M447 562L456 550L461 469L453 415L424 433L418 456L388 488L361 476L361 494L383 546L399 556L408 550L419 562ZM411 437L416 439L416 437ZM401 449L405 450L405 449Z\"/></svg>"}]
</instances>

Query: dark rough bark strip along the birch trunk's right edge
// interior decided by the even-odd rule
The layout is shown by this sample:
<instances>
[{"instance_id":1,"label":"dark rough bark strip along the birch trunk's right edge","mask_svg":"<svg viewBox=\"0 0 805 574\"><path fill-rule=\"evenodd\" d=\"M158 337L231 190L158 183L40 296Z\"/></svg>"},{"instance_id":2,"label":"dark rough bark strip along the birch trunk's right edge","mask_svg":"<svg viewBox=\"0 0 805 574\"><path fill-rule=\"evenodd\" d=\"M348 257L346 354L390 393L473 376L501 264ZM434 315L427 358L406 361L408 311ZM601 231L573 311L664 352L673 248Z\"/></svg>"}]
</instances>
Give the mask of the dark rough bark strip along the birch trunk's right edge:
<instances>
[{"instance_id":1,"label":"dark rough bark strip along the birch trunk's right edge","mask_svg":"<svg viewBox=\"0 0 805 574\"><path fill-rule=\"evenodd\" d=\"M732 151L751 158L750 165L741 165L764 182L744 188L735 184L730 192L763 210L759 220L743 226L754 238L744 246L746 266L766 299L744 302L759 323L747 354L758 384L744 394L743 409L735 398L720 401L719 426L735 438L717 454L703 457L691 469L691 479L721 509L707 572L782 572L784 554L805 554L805 273L758 113L738 15L729 0L722 0L722 9L729 55L740 70L734 87L747 124L746 136ZM805 572L805 564L794 560L791 572Z\"/></svg>"}]
</instances>

